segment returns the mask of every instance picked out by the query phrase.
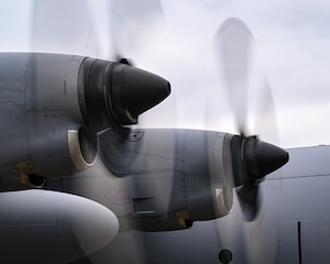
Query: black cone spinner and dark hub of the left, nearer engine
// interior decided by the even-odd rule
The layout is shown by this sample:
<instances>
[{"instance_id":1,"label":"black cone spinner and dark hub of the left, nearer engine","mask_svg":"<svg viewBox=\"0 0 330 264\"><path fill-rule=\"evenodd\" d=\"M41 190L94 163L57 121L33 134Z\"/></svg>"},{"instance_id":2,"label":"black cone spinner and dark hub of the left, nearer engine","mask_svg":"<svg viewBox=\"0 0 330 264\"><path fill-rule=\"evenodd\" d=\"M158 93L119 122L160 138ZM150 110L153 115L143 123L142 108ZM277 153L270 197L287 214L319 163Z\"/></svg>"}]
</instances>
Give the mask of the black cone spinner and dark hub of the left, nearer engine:
<instances>
[{"instance_id":1,"label":"black cone spinner and dark hub of the left, nearer engine","mask_svg":"<svg viewBox=\"0 0 330 264\"><path fill-rule=\"evenodd\" d=\"M88 58L79 74L79 102L91 131L136 124L170 94L164 78L123 63Z\"/></svg>"}]
</instances>

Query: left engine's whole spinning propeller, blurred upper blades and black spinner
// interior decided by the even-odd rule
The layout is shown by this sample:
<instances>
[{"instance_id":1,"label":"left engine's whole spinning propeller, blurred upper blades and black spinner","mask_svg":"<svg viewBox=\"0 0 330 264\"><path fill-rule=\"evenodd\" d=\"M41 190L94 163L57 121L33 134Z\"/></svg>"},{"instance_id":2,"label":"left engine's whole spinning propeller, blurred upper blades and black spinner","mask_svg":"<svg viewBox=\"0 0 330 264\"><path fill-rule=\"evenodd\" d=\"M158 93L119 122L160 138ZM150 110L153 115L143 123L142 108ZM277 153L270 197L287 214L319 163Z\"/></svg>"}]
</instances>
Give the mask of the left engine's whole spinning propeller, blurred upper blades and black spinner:
<instances>
[{"instance_id":1,"label":"left engine's whole spinning propeller, blurred upper blades and black spinner","mask_svg":"<svg viewBox=\"0 0 330 264\"><path fill-rule=\"evenodd\" d=\"M102 21L107 21L110 26L99 24L101 29L97 31L96 20L92 19L87 1L35 0L31 28L32 50L86 56L79 69L81 75L77 87L85 121L84 124L81 122L84 142L90 142L97 148L101 162L108 168L109 158L113 158L108 154L109 148L116 148L118 142L129 135L129 125L136 124L141 113L169 95L170 86L162 77L133 67L132 61L128 58L132 48L136 52L151 45L155 34L150 29L158 30L156 26L163 23L160 1L113 0L98 3L97 8L105 8L98 11L105 14L107 10L107 18ZM111 31L102 32L103 29ZM100 32L103 33L101 37L110 44L109 51L103 54L100 54ZM114 51L111 62L97 59L107 58L112 54L110 51ZM64 74L67 74L65 69ZM84 147L82 144L81 148L84 154L84 150L90 146L88 144ZM108 177L110 175L111 173L101 174L105 182L98 183L108 183L111 180ZM130 189L125 180L121 183L121 189ZM84 188L87 188L87 196L101 189L94 189L91 186ZM128 193L120 195L123 201L130 200ZM143 244L140 239L132 240L134 245Z\"/></svg>"}]
</instances>

